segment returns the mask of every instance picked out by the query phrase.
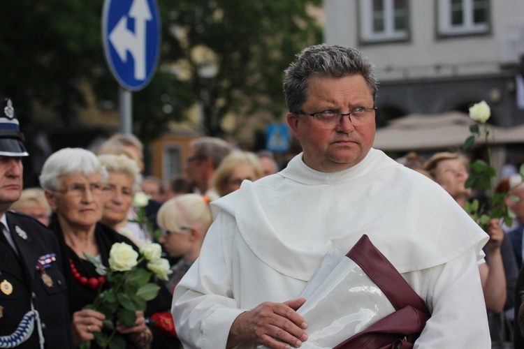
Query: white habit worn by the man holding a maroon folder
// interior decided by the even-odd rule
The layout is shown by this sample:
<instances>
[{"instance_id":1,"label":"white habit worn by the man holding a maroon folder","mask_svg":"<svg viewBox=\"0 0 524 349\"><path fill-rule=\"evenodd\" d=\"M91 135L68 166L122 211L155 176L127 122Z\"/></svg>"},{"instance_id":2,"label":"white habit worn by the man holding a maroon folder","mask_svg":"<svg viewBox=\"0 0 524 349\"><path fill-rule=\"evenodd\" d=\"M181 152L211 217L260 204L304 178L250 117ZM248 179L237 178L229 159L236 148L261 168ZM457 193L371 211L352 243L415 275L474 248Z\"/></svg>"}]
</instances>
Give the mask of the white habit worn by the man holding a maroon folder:
<instances>
[{"instance_id":1,"label":"white habit worn by the man holding a maroon folder","mask_svg":"<svg viewBox=\"0 0 524 349\"><path fill-rule=\"evenodd\" d=\"M381 151L335 173L299 154L212 209L200 258L173 295L184 348L225 348L240 313L298 298L328 251L346 253L363 234L432 312L414 348L490 348L477 265L488 235L438 184Z\"/></svg>"}]
</instances>

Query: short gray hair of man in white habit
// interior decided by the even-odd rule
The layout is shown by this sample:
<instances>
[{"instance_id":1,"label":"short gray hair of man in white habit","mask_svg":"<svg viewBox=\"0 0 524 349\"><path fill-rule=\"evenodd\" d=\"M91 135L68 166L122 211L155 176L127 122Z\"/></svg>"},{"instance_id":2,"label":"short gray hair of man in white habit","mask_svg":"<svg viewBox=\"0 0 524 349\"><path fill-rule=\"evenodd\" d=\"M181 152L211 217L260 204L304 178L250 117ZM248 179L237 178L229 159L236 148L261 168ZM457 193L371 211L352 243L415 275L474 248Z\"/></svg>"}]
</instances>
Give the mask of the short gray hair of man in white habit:
<instances>
[{"instance_id":1,"label":"short gray hair of man in white habit","mask_svg":"<svg viewBox=\"0 0 524 349\"><path fill-rule=\"evenodd\" d=\"M289 112L298 113L307 99L307 85L312 77L345 77L362 75L373 96L377 96L378 82L374 65L361 52L340 45L314 45L297 55L285 70L284 94Z\"/></svg>"}]
</instances>

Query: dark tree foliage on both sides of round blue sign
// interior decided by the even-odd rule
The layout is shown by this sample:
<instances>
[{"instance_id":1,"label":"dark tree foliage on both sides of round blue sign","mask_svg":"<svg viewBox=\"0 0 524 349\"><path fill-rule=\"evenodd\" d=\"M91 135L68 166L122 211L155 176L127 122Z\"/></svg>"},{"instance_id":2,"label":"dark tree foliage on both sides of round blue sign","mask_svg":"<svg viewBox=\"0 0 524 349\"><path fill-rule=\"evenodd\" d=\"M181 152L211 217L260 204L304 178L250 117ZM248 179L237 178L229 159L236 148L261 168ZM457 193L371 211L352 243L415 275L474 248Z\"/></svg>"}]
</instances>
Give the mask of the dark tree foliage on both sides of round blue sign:
<instances>
[{"instance_id":1,"label":"dark tree foliage on both sides of round blue sign","mask_svg":"<svg viewBox=\"0 0 524 349\"><path fill-rule=\"evenodd\" d=\"M321 41L307 6L320 0L157 0L162 20L159 68L133 93L133 131L146 143L183 119L196 101L203 130L221 135L228 112L277 117L284 107L284 68L303 47ZM2 0L0 96L22 118L39 103L64 126L86 105L82 84L96 101L117 103L117 82L103 57L103 0ZM173 74L173 66L187 69ZM198 75L214 66L214 77Z\"/></svg>"}]
</instances>

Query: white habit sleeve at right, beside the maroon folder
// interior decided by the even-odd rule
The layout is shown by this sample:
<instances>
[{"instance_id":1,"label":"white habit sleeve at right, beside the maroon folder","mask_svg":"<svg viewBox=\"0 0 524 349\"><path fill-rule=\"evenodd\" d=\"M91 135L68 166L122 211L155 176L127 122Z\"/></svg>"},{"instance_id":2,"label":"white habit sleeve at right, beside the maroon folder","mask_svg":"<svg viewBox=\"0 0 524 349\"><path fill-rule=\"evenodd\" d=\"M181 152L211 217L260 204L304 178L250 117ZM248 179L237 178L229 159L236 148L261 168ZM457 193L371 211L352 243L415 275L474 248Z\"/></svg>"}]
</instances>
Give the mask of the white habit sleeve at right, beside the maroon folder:
<instances>
[{"instance_id":1,"label":"white habit sleeve at right, beside the maroon folder","mask_svg":"<svg viewBox=\"0 0 524 349\"><path fill-rule=\"evenodd\" d=\"M476 252L470 248L432 268L426 304L431 318L414 349L491 348Z\"/></svg>"}]
</instances>

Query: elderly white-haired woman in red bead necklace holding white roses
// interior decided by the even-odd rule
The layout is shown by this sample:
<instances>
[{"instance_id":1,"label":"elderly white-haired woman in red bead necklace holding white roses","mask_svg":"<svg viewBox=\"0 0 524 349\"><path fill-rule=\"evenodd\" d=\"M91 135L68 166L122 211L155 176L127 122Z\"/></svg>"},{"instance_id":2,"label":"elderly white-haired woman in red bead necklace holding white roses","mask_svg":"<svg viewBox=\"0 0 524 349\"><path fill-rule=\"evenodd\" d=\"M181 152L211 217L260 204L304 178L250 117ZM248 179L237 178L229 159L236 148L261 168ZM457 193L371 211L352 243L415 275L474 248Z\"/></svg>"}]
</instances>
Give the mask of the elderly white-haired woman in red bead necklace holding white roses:
<instances>
[{"instance_id":1,"label":"elderly white-haired woman in red bead necklace holding white roses","mask_svg":"<svg viewBox=\"0 0 524 349\"><path fill-rule=\"evenodd\" d=\"M83 253L95 256L107 267L112 244L125 242L138 251L131 240L99 223L107 178L108 173L99 159L91 151L80 148L61 149L52 154L45 161L40 176L53 211L50 228L56 232L64 256L75 346L91 341L91 348L96 348L97 343L92 340L94 333L103 330L104 320L103 313L83 309L94 302L99 284L104 282ZM169 296L168 291L165 292ZM159 299L166 300L163 292L159 292ZM150 311L149 303L147 311ZM117 329L126 334L128 347L150 348L151 329L142 311L137 311L136 315L135 327L119 325Z\"/></svg>"}]
</instances>

